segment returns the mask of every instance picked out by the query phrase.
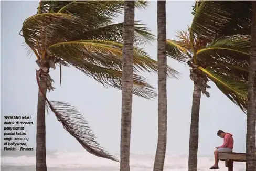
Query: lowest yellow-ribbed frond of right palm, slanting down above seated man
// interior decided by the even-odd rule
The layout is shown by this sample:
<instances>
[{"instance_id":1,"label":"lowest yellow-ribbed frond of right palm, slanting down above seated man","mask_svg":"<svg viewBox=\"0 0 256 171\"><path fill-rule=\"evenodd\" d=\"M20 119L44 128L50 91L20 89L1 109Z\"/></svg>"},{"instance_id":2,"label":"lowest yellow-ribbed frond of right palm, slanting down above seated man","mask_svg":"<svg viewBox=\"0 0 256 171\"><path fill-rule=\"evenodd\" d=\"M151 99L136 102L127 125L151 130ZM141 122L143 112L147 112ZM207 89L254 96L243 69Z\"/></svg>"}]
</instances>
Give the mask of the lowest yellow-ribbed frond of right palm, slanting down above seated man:
<instances>
[{"instance_id":1,"label":"lowest yellow-ribbed frond of right palm, slanting down above seated man","mask_svg":"<svg viewBox=\"0 0 256 171\"><path fill-rule=\"evenodd\" d=\"M233 103L238 105L241 110L246 113L247 109L247 90L248 82L232 77L229 72L225 72L220 68L202 68L202 72L216 84L220 91L225 94Z\"/></svg>"}]
</instances>

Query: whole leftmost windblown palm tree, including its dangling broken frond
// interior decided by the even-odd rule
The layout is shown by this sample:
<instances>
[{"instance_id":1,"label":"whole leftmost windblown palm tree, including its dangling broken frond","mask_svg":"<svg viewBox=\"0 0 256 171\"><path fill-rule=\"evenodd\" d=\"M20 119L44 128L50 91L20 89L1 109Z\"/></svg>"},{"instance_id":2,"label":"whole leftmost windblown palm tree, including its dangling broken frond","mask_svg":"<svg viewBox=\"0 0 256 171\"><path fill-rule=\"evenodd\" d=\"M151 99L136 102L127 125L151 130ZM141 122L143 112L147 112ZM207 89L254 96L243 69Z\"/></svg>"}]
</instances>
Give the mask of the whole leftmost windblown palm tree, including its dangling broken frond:
<instances>
[{"instance_id":1,"label":"whole leftmost windblown palm tree, including its dangling broken frond","mask_svg":"<svg viewBox=\"0 0 256 171\"><path fill-rule=\"evenodd\" d=\"M37 14L24 21L20 35L36 55L39 66L36 170L47 170L46 104L89 153L118 161L95 141L79 111L66 102L49 101L46 92L54 90L49 70L56 66L60 67L60 78L62 66L74 67L104 86L122 88L123 23L114 24L111 20L122 12L123 5L123 1L40 1ZM136 1L135 6L145 8L147 2ZM146 45L154 40L150 30L140 22L135 22L134 34L135 45ZM135 72L157 71L157 62L143 49L134 47L133 58ZM168 74L175 76L177 72L168 68ZM147 99L156 96L154 88L140 75L133 75L133 83L133 94Z\"/></svg>"}]
</instances>

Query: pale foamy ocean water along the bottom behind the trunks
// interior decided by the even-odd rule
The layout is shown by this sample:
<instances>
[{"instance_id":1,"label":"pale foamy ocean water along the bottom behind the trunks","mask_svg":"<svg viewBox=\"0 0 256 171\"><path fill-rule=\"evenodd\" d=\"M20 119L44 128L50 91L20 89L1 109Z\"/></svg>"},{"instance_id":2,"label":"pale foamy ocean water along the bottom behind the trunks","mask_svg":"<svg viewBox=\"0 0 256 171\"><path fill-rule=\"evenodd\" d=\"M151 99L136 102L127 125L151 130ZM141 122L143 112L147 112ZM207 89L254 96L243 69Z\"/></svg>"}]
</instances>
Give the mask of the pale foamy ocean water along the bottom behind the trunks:
<instances>
[{"instance_id":1,"label":"pale foamy ocean water along the bottom behind the trunks","mask_svg":"<svg viewBox=\"0 0 256 171\"><path fill-rule=\"evenodd\" d=\"M35 171L35 152L13 153L1 151L1 171ZM119 154L116 154L119 156ZM155 154L131 154L131 171L152 171ZM187 156L166 155L165 171L187 171ZM198 171L210 170L213 156L198 157ZM219 171L227 171L225 162ZM95 157L87 152L47 152L48 171L119 171L119 163ZM244 171L245 163L234 163L234 171Z\"/></svg>"}]
</instances>

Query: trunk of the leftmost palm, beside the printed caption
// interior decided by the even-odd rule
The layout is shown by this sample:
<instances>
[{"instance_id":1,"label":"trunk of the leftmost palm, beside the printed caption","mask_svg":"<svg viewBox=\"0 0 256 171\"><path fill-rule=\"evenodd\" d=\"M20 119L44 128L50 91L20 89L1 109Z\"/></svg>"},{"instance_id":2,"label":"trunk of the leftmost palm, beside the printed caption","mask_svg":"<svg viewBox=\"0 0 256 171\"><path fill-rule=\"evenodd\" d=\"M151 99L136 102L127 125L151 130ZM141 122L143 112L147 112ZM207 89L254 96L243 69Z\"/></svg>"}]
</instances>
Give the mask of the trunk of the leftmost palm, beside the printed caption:
<instances>
[{"instance_id":1,"label":"trunk of the leftmost palm, beside the printed caption","mask_svg":"<svg viewBox=\"0 0 256 171\"><path fill-rule=\"evenodd\" d=\"M40 87L46 95L47 86L44 78L40 77ZM36 170L46 171L46 136L45 136L45 97L42 92L38 91L37 102L37 124L36 124Z\"/></svg>"}]
</instances>

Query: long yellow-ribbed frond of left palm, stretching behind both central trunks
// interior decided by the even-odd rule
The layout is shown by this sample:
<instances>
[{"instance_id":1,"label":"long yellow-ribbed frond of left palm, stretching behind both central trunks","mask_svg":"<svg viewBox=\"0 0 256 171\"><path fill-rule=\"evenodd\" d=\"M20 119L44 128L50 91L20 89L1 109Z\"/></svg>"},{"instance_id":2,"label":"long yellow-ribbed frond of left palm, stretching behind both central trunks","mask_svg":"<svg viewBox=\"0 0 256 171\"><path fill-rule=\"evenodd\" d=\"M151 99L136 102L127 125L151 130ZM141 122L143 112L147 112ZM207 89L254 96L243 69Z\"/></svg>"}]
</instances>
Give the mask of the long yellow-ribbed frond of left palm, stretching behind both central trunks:
<instances>
[{"instance_id":1,"label":"long yellow-ribbed frond of left palm, stretching behind both central trunks","mask_svg":"<svg viewBox=\"0 0 256 171\"><path fill-rule=\"evenodd\" d=\"M81 40L51 45L47 52L74 67L79 63L91 62L109 69L122 70L122 47L122 44L112 41ZM151 59L141 48L134 47L133 61L135 72L157 71L157 61ZM167 72L169 77L179 74L170 67Z\"/></svg>"}]
</instances>

